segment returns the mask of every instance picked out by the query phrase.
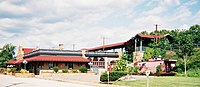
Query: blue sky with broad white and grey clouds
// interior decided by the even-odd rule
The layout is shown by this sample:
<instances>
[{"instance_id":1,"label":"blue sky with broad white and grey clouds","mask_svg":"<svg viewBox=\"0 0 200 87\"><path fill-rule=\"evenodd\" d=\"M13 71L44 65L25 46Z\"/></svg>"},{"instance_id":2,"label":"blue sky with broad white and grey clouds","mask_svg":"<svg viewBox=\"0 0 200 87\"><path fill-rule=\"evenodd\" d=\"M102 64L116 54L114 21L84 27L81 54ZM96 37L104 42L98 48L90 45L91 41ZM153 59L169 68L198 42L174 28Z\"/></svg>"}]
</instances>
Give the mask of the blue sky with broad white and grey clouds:
<instances>
[{"instance_id":1,"label":"blue sky with broad white and grey clouds","mask_svg":"<svg viewBox=\"0 0 200 87\"><path fill-rule=\"evenodd\" d=\"M200 24L200 0L0 0L0 47L90 48Z\"/></svg>"}]
</instances>

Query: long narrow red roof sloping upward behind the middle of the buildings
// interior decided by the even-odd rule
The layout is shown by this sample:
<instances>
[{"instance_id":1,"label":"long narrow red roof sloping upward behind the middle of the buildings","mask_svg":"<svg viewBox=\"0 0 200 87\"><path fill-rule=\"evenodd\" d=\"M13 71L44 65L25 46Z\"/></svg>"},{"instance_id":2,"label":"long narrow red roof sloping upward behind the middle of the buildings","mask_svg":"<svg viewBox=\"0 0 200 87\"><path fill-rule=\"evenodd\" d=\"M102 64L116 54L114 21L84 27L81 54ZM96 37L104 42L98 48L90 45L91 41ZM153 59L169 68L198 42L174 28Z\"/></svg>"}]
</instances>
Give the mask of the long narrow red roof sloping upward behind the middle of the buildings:
<instances>
[{"instance_id":1,"label":"long narrow red roof sloping upward behind the middle of the buildings","mask_svg":"<svg viewBox=\"0 0 200 87\"><path fill-rule=\"evenodd\" d=\"M123 46L125 42L120 42L120 43L115 43L115 44L109 44L109 45L104 45L104 46L99 46L99 47L94 47L94 48L83 48L84 50L102 50L102 49L107 49L107 48L114 48L114 47L119 47Z\"/></svg>"}]
</instances>

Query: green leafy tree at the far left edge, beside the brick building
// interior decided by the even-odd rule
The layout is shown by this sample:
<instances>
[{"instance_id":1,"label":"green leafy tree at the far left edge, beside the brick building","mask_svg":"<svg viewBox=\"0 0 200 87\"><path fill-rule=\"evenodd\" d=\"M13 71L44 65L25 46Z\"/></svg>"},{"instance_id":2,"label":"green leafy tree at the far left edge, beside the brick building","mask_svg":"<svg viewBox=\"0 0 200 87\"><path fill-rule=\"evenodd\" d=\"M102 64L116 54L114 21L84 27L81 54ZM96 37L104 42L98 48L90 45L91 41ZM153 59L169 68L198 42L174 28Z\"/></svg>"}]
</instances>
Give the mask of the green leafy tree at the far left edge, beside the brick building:
<instances>
[{"instance_id":1,"label":"green leafy tree at the far left edge, beside the brick building","mask_svg":"<svg viewBox=\"0 0 200 87\"><path fill-rule=\"evenodd\" d=\"M5 62L8 62L9 60L13 59L15 46L12 44L6 44L3 46L2 51L0 52L0 67L3 67L3 64Z\"/></svg>"}]
</instances>

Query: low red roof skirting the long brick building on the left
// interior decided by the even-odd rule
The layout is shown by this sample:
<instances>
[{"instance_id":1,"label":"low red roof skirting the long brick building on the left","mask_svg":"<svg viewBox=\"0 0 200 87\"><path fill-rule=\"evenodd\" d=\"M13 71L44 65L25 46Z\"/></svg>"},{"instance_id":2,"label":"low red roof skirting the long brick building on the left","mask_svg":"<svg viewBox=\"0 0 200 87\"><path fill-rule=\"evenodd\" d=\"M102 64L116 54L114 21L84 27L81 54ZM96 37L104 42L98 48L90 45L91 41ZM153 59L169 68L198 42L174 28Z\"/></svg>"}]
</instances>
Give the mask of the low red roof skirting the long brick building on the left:
<instances>
[{"instance_id":1,"label":"low red roof skirting the long brick building on the left","mask_svg":"<svg viewBox=\"0 0 200 87\"><path fill-rule=\"evenodd\" d=\"M11 60L6 64L21 64L23 60ZM88 59L81 56L35 56L31 58L26 58L27 62L33 61L48 61L48 62L90 62Z\"/></svg>"}]
</instances>

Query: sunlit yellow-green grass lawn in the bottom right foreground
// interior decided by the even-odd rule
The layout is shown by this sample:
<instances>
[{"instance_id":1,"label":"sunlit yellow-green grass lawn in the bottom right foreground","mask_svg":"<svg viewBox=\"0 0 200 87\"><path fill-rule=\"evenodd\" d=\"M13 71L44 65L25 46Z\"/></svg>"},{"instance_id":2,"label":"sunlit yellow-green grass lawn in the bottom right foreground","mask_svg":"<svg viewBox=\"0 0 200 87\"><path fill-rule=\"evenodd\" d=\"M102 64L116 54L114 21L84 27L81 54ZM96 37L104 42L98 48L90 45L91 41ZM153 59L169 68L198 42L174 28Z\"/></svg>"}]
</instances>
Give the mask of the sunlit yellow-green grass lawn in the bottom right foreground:
<instances>
[{"instance_id":1,"label":"sunlit yellow-green grass lawn in the bottom right foreground","mask_svg":"<svg viewBox=\"0 0 200 87\"><path fill-rule=\"evenodd\" d=\"M130 87L146 87L146 79L116 81L113 84ZM200 87L200 78L194 77L151 77L150 87Z\"/></svg>"}]
</instances>

